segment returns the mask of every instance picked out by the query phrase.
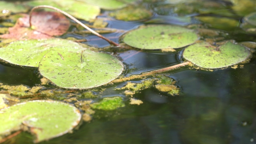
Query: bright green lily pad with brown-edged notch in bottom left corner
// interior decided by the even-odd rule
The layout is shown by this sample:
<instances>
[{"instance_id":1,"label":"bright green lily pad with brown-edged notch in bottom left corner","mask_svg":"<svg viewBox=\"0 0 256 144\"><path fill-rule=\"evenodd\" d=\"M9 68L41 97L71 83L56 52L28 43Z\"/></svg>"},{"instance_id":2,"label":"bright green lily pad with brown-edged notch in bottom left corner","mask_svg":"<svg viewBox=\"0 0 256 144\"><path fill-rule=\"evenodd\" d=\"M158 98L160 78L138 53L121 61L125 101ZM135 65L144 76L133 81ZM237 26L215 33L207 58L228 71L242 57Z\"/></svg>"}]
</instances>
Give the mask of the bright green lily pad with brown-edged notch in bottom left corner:
<instances>
[{"instance_id":1,"label":"bright green lily pad with brown-edged notch in bottom left corner","mask_svg":"<svg viewBox=\"0 0 256 144\"><path fill-rule=\"evenodd\" d=\"M0 135L28 126L36 135L35 143L70 132L80 122L80 111L59 101L36 100L0 110Z\"/></svg>"}]
</instances>

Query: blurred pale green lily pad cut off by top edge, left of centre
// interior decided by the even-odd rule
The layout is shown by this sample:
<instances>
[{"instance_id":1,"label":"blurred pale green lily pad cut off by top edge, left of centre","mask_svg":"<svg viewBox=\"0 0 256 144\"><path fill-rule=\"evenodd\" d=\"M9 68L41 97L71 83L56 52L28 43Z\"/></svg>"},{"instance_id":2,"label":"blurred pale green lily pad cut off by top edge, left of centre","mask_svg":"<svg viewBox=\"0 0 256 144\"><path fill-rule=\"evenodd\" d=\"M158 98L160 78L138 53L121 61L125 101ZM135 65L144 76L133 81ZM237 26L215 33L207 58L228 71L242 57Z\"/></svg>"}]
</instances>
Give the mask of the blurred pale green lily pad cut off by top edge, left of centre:
<instances>
[{"instance_id":1,"label":"blurred pale green lily pad cut off by top edge, left of centre","mask_svg":"<svg viewBox=\"0 0 256 144\"><path fill-rule=\"evenodd\" d=\"M94 6L99 6L101 9L106 9L106 10L121 9L127 6L127 4L117 0L79 0L79 1L83 1L84 3L92 4Z\"/></svg>"}]
</instances>

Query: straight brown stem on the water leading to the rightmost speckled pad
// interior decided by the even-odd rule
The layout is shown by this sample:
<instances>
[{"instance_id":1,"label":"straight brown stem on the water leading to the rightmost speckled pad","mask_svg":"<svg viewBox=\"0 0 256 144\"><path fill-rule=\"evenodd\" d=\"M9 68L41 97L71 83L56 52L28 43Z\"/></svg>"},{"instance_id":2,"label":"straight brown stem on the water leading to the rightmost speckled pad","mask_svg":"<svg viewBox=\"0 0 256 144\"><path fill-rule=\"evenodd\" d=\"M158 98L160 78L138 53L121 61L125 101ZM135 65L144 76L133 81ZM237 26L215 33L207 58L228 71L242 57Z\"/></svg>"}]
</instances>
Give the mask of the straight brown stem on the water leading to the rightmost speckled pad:
<instances>
[{"instance_id":1,"label":"straight brown stem on the water leading to the rightmost speckled pad","mask_svg":"<svg viewBox=\"0 0 256 144\"><path fill-rule=\"evenodd\" d=\"M164 72L167 72L167 71L170 71L170 70L177 69L179 67L184 67L184 66L189 65L189 64L191 64L190 61L183 62L181 64L176 64L176 65L173 65L173 66L170 66L170 67L161 68L159 70L153 70L153 71L143 73L143 74L136 74L136 75L132 75L132 76L129 76L129 77L121 77L121 78L115 79L111 82L112 83L120 83L120 82L125 82L127 80L132 80L132 79L142 79L143 77L146 77L146 76L152 76L154 74L164 73Z\"/></svg>"}]
</instances>

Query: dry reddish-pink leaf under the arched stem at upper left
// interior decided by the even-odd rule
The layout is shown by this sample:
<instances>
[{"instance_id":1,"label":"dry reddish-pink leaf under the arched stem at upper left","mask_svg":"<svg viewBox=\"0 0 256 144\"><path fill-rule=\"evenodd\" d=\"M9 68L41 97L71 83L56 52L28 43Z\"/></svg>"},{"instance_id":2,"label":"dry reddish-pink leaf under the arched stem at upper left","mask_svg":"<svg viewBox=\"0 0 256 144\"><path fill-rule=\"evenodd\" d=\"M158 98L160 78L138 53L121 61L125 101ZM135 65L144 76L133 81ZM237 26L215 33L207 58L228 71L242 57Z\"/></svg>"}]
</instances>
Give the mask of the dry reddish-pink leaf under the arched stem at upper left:
<instances>
[{"instance_id":1,"label":"dry reddish-pink leaf under the arched stem at upper left","mask_svg":"<svg viewBox=\"0 0 256 144\"><path fill-rule=\"evenodd\" d=\"M61 36L68 30L70 21L58 12L33 12L29 25L29 15L19 18L16 24L9 28L9 34L0 35L3 39L48 39Z\"/></svg>"}]
</instances>

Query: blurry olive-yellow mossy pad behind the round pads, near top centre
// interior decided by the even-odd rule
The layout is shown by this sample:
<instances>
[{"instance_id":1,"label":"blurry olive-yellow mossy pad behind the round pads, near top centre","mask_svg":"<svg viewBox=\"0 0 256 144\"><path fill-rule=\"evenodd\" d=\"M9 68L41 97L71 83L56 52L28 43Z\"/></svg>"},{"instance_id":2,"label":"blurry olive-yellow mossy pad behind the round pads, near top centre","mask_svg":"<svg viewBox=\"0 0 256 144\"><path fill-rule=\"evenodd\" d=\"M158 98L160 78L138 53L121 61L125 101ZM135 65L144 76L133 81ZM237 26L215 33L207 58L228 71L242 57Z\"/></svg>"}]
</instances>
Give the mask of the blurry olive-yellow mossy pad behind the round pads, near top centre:
<instances>
[{"instance_id":1,"label":"blurry olive-yellow mossy pad behind the round pads, near top centre","mask_svg":"<svg viewBox=\"0 0 256 144\"><path fill-rule=\"evenodd\" d=\"M128 6L110 13L110 16L122 21L138 21L152 16L152 12L141 7Z\"/></svg>"}]
</instances>

